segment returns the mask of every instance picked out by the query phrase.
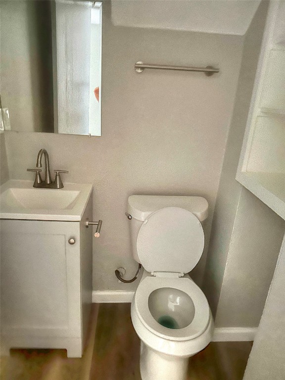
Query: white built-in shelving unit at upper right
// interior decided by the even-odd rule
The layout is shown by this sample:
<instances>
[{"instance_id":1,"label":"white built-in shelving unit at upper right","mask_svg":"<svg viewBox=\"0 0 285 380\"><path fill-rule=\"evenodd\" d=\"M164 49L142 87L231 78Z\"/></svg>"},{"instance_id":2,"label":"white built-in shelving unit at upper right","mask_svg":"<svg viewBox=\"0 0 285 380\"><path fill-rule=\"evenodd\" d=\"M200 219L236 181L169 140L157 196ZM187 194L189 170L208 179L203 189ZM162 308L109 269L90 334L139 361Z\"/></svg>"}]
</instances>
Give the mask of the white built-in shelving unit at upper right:
<instances>
[{"instance_id":1,"label":"white built-in shelving unit at upper right","mask_svg":"<svg viewBox=\"0 0 285 380\"><path fill-rule=\"evenodd\" d=\"M285 1L271 1L236 179L285 219Z\"/></svg>"}]
</instances>

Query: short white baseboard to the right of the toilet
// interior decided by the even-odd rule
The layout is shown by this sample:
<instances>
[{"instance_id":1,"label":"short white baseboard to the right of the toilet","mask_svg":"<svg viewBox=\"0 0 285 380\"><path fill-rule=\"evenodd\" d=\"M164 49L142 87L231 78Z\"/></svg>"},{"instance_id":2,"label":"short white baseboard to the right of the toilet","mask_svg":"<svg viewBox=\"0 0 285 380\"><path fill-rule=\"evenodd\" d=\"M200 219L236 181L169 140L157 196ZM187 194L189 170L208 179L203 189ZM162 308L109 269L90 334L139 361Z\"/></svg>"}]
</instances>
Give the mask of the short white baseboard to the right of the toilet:
<instances>
[{"instance_id":1,"label":"short white baseboard to the right of the toilet","mask_svg":"<svg viewBox=\"0 0 285 380\"><path fill-rule=\"evenodd\" d=\"M254 340L257 327L216 327L212 342L237 342Z\"/></svg>"}]
</instances>

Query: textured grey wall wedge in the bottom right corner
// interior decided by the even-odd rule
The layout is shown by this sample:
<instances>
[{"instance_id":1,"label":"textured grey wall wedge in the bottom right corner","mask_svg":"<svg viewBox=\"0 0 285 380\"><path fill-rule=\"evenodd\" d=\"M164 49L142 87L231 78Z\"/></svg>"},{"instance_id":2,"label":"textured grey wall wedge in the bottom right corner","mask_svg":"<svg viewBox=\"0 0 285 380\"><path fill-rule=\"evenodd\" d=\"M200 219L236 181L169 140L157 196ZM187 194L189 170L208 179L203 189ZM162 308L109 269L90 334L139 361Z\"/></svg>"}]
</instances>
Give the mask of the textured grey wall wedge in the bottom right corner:
<instances>
[{"instance_id":1,"label":"textured grey wall wedge in the bottom right corner","mask_svg":"<svg viewBox=\"0 0 285 380\"><path fill-rule=\"evenodd\" d=\"M285 238L249 355L244 380L285 378Z\"/></svg>"}]
</instances>

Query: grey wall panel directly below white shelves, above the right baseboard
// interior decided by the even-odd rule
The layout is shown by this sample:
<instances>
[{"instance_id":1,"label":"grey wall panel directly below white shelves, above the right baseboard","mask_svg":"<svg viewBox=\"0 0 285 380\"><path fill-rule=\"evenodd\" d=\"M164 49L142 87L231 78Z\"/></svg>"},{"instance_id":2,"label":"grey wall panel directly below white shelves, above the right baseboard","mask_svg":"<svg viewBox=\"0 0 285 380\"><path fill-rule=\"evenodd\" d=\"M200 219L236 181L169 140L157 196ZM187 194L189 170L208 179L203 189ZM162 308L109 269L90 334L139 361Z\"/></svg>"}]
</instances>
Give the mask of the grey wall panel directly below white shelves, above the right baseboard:
<instances>
[{"instance_id":1,"label":"grey wall panel directly below white shelves, above the right baseboard","mask_svg":"<svg viewBox=\"0 0 285 380\"><path fill-rule=\"evenodd\" d=\"M242 189L215 319L216 327L257 327L285 233L285 221Z\"/></svg>"}]
</instances>

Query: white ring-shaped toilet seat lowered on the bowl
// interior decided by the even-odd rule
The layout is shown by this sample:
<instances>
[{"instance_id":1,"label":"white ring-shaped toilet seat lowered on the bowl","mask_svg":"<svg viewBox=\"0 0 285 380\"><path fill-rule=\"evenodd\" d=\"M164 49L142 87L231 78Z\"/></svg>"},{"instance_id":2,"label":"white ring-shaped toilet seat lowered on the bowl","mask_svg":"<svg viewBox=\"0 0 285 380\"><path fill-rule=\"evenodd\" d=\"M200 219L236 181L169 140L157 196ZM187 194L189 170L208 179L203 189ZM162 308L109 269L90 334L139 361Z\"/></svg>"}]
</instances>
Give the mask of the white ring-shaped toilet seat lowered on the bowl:
<instances>
[{"instance_id":1,"label":"white ring-shaped toilet seat lowered on the bowl","mask_svg":"<svg viewBox=\"0 0 285 380\"><path fill-rule=\"evenodd\" d=\"M190 296L195 314L192 322L182 329L168 329L152 317L148 307L148 297L156 289L173 287ZM137 316L144 327L153 334L174 341L194 339L207 328L211 318L208 301L202 290L189 278L166 278L147 276L139 284L133 301Z\"/></svg>"}]
</instances>

